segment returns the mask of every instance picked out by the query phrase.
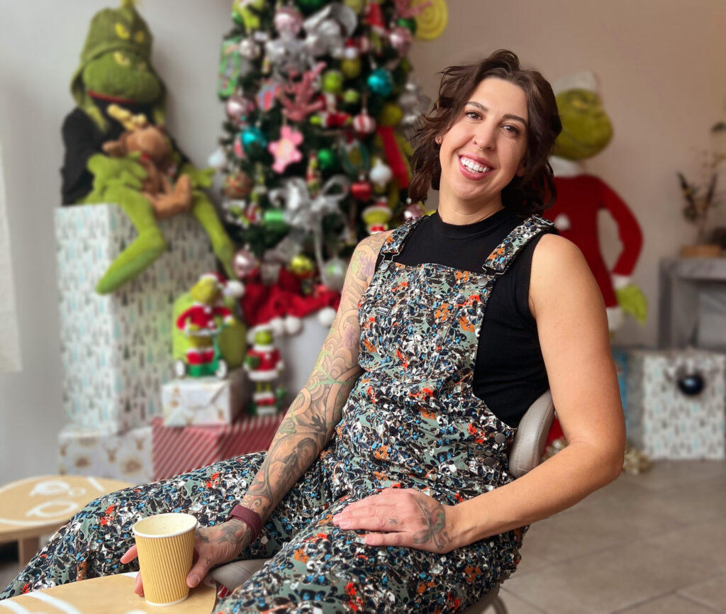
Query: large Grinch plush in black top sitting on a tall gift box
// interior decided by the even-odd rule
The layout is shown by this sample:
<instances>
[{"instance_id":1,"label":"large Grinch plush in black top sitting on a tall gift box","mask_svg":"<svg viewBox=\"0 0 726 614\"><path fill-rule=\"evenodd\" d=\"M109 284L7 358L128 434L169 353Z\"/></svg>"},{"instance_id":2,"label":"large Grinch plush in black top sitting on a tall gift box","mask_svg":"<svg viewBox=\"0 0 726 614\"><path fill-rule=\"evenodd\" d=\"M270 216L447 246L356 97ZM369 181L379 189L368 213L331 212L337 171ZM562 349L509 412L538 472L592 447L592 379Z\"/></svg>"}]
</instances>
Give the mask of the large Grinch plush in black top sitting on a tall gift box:
<instances>
[{"instance_id":1,"label":"large Grinch plush in black top sitting on a tall gift box","mask_svg":"<svg viewBox=\"0 0 726 614\"><path fill-rule=\"evenodd\" d=\"M138 231L136 240L97 283L101 294L113 292L136 277L166 250L148 192L144 195L148 173L139 163L142 152L119 156L103 150L105 143L118 141L126 130L110 114L112 105L163 125L166 88L151 65L151 44L150 30L131 0L122 0L118 9L102 9L91 20L81 65L71 81L70 91L78 107L65 118L62 128L63 204L117 203ZM190 213L208 233L227 274L234 277L234 245L202 191L210 187L213 171L195 168L173 139L170 144L176 164L167 167L168 181L176 184L181 176L188 178L184 182L189 181L192 187Z\"/></svg>"}]
</instances>

